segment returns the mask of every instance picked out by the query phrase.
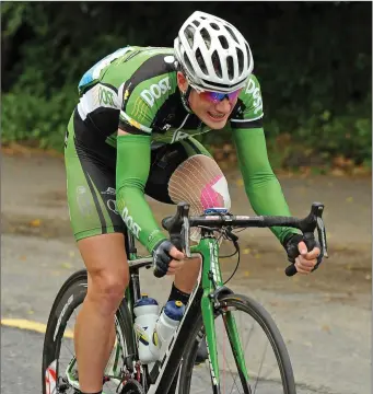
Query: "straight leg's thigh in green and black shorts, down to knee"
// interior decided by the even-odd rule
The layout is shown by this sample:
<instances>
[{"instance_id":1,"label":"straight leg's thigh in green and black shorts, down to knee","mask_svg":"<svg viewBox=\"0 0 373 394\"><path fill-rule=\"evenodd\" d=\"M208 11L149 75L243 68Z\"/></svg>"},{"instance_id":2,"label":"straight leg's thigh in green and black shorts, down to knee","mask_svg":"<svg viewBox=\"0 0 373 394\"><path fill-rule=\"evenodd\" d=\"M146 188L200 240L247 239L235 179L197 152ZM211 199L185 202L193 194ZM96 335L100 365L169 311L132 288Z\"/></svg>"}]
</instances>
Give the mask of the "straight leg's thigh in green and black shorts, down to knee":
<instances>
[{"instance_id":1,"label":"straight leg's thigh in green and black shorts, down to knee","mask_svg":"<svg viewBox=\"0 0 373 394\"><path fill-rule=\"evenodd\" d=\"M91 275L102 270L123 274L126 228L116 211L115 171L78 142L74 136L79 127L85 126L72 115L65 163L73 234Z\"/></svg>"}]
</instances>

